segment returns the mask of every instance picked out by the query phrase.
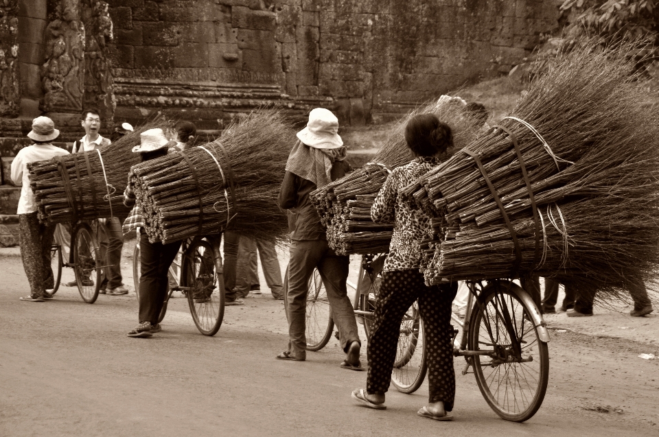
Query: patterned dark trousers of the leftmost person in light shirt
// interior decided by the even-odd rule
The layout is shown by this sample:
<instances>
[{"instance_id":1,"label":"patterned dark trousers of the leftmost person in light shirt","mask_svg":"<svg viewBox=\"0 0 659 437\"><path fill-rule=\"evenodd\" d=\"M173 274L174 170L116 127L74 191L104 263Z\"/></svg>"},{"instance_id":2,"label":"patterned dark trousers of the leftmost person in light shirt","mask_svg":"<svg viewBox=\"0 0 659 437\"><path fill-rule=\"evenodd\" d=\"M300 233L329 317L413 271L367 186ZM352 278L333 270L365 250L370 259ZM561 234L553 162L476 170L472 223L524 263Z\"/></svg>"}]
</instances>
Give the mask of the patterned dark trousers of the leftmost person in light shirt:
<instances>
[{"instance_id":1,"label":"patterned dark trousers of the leftmost person in light shirt","mask_svg":"<svg viewBox=\"0 0 659 437\"><path fill-rule=\"evenodd\" d=\"M51 267L51 247L55 225L39 223L37 213L19 214L19 243L21 259L32 296L43 296L43 292L54 286Z\"/></svg>"}]
</instances>

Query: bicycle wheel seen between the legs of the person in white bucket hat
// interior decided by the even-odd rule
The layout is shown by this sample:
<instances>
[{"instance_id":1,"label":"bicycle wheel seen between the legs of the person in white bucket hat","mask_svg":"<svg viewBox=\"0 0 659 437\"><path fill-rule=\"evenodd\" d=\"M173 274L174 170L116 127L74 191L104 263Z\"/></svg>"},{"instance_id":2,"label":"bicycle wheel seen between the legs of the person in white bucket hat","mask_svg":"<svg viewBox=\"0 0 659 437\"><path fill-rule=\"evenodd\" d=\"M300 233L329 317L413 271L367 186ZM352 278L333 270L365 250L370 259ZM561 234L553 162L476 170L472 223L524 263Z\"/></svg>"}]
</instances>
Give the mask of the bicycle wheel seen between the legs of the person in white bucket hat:
<instances>
[{"instance_id":1,"label":"bicycle wheel seen between the legs of the person in white bucket hat","mask_svg":"<svg viewBox=\"0 0 659 437\"><path fill-rule=\"evenodd\" d=\"M329 338L332 338L332 330L334 330L334 320L332 320L332 308L329 307L325 284L318 269L314 269L309 278L305 313L307 351L323 349Z\"/></svg>"}]
</instances>

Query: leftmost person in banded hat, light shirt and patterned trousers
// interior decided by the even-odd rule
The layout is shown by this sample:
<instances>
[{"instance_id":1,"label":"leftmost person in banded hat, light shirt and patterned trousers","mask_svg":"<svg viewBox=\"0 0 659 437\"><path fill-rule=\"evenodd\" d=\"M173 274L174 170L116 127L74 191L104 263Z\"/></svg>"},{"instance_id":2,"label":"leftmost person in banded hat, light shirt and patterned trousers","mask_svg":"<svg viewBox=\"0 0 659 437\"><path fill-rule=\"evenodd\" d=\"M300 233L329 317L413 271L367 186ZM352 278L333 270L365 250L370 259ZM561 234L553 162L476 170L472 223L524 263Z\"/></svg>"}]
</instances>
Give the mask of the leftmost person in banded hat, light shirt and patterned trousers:
<instances>
[{"instance_id":1,"label":"leftmost person in banded hat, light shirt and patterned trousers","mask_svg":"<svg viewBox=\"0 0 659 437\"><path fill-rule=\"evenodd\" d=\"M60 131L55 128L51 119L36 117L32 120L32 130L27 134L34 144L19 150L12 161L12 180L16 185L23 184L16 214L19 215L21 259L27 281L30 283L30 295L21 297L21 300L27 302L43 302L44 299L53 298L48 290L54 287L50 257L55 233L55 225L39 223L34 193L27 177L27 164L69 154L53 145L52 141L59 135Z\"/></svg>"}]
</instances>

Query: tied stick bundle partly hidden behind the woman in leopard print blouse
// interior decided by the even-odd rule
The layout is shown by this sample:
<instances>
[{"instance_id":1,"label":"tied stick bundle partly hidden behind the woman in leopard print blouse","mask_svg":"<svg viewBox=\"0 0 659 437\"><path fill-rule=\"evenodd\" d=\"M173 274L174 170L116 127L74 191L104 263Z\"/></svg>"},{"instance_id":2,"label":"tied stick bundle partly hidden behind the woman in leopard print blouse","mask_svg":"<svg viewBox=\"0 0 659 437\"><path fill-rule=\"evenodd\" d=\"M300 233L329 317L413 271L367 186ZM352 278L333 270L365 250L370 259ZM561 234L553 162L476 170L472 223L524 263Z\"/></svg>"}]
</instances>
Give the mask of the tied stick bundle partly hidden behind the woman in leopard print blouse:
<instances>
[{"instance_id":1,"label":"tied stick bundle partly hidden behind the woman in leopard print blouse","mask_svg":"<svg viewBox=\"0 0 659 437\"><path fill-rule=\"evenodd\" d=\"M459 150L475 139L482 123L465 110L463 104L443 96L437 102L422 106L402 119L373 158L373 163L313 191L310 199L321 217L321 223L327 227L327 243L338 254L380 253L389 250L393 223L373 223L371 206L389 176L388 169L413 160L414 156L405 141L405 126L415 115L424 113L437 115L440 121L451 127L453 150ZM450 152L452 150L446 156Z\"/></svg>"}]
</instances>

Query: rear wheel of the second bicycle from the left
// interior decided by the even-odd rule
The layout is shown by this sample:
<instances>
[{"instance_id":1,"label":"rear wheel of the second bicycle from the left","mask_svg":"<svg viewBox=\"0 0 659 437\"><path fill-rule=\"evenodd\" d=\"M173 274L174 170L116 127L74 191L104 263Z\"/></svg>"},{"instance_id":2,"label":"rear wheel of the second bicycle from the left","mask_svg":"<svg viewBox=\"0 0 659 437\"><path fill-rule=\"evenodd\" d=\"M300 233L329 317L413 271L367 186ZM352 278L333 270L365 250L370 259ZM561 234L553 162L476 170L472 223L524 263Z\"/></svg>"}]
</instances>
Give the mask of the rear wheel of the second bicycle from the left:
<instances>
[{"instance_id":1,"label":"rear wheel of the second bicycle from the left","mask_svg":"<svg viewBox=\"0 0 659 437\"><path fill-rule=\"evenodd\" d=\"M222 258L214 239L192 241L183 256L181 282L183 287L189 287L187 303L197 329L204 335L215 335L224 318L224 279Z\"/></svg>"}]
</instances>

